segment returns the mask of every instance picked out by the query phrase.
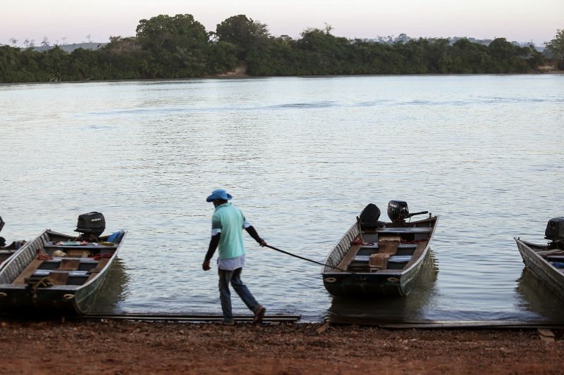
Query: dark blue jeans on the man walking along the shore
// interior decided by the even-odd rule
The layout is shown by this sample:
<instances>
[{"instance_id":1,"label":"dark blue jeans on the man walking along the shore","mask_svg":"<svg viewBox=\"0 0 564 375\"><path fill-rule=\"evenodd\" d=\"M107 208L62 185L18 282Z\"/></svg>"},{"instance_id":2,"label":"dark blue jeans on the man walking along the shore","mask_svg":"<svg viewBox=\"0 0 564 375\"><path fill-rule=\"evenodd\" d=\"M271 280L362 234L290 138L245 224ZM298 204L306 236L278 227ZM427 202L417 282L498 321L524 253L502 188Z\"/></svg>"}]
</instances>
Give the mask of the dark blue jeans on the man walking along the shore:
<instances>
[{"instance_id":1,"label":"dark blue jeans on the man walking along the shore","mask_svg":"<svg viewBox=\"0 0 564 375\"><path fill-rule=\"evenodd\" d=\"M230 283L249 310L257 312L260 307L260 304L255 300L255 297L252 296L247 286L243 283L243 280L241 280L242 271L243 268L238 268L234 271L219 269L219 299L221 300L221 310L223 311L223 322L233 322L231 292L229 291Z\"/></svg>"}]
</instances>

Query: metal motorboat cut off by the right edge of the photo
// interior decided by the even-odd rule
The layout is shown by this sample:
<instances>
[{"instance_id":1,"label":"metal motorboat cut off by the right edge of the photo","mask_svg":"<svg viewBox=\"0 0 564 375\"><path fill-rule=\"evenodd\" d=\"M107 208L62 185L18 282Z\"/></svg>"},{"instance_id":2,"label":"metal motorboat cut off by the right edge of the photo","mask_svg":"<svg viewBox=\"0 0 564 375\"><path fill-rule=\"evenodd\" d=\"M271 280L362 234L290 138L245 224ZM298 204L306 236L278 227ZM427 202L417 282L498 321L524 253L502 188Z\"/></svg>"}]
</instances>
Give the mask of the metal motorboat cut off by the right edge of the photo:
<instances>
[{"instance_id":1,"label":"metal motorboat cut off by the right edge of the photo","mask_svg":"<svg viewBox=\"0 0 564 375\"><path fill-rule=\"evenodd\" d=\"M548 288L564 299L564 217L548 220L546 245L513 238L527 267Z\"/></svg>"}]
</instances>

